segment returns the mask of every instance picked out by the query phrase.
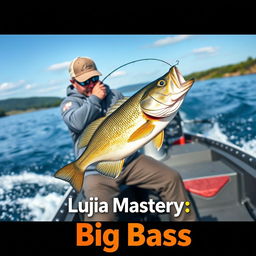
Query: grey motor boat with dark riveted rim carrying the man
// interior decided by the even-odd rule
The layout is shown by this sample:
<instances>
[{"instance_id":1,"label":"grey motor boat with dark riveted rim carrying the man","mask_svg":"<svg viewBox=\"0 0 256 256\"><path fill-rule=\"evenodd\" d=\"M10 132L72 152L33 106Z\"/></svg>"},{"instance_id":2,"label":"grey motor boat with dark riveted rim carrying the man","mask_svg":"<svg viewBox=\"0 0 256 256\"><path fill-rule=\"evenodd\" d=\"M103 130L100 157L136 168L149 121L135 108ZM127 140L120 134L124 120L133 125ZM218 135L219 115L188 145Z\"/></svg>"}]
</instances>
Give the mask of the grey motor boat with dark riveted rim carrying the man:
<instances>
[{"instance_id":1,"label":"grey motor boat with dark riveted rim carrying the man","mask_svg":"<svg viewBox=\"0 0 256 256\"><path fill-rule=\"evenodd\" d=\"M180 173L198 221L255 221L256 158L235 145L183 132L183 126L178 113L165 129L161 150L148 143L141 152ZM160 200L153 191L126 185L119 197L137 202ZM82 221L79 214L68 212L70 198L75 209L83 195L70 187L52 221ZM120 213L118 217L127 222L169 221L168 214Z\"/></svg>"}]
</instances>

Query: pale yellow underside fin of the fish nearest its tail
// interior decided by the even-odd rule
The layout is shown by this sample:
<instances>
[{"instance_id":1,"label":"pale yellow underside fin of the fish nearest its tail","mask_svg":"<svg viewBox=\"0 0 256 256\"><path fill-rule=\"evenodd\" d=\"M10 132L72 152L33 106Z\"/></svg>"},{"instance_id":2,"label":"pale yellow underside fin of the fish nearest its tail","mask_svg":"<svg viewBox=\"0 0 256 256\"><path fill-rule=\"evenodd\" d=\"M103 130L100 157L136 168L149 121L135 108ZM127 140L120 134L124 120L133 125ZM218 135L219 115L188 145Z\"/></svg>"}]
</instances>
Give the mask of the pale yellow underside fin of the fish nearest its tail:
<instances>
[{"instance_id":1,"label":"pale yellow underside fin of the fish nearest its tail","mask_svg":"<svg viewBox=\"0 0 256 256\"><path fill-rule=\"evenodd\" d=\"M119 161L105 161L98 163L96 169L103 175L117 178L122 171L123 165L124 159Z\"/></svg>"}]
</instances>

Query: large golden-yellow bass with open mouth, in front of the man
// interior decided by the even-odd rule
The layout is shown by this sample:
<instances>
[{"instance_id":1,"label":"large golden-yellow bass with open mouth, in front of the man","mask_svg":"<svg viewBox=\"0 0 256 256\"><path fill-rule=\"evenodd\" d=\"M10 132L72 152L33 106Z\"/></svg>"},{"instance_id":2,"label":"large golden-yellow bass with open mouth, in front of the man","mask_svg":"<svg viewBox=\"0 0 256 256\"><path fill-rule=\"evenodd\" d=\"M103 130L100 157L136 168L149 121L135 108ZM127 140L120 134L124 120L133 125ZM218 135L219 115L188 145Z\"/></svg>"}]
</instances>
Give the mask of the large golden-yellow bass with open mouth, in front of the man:
<instances>
[{"instance_id":1,"label":"large golden-yellow bass with open mouth, in front of the man","mask_svg":"<svg viewBox=\"0 0 256 256\"><path fill-rule=\"evenodd\" d=\"M174 118L194 80L185 81L173 66L129 99L112 106L105 117L92 122L80 136L83 154L55 173L71 183L76 191L83 185L86 168L97 163L101 174L117 178L124 160L149 141L159 150L164 128Z\"/></svg>"}]
</instances>

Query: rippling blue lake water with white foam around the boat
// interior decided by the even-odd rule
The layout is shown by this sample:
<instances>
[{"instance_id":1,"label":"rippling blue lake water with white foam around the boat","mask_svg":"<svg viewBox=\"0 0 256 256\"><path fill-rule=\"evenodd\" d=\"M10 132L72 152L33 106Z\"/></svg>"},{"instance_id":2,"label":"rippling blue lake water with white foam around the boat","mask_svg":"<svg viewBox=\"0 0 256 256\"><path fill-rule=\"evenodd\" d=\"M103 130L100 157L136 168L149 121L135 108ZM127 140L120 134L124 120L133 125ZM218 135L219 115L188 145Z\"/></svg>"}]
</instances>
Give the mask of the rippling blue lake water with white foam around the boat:
<instances>
[{"instance_id":1,"label":"rippling blue lake water with white foam around the boat","mask_svg":"<svg viewBox=\"0 0 256 256\"><path fill-rule=\"evenodd\" d=\"M133 92L126 89L125 95ZM256 75L198 81L182 107L185 130L256 155ZM74 160L59 108L0 118L0 220L51 220L69 185L52 175Z\"/></svg>"}]
</instances>

